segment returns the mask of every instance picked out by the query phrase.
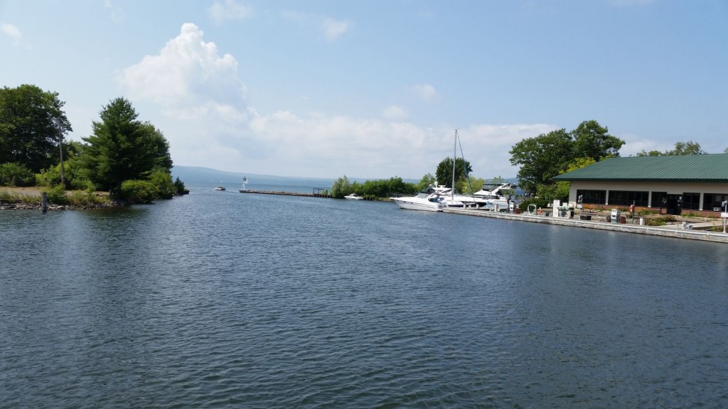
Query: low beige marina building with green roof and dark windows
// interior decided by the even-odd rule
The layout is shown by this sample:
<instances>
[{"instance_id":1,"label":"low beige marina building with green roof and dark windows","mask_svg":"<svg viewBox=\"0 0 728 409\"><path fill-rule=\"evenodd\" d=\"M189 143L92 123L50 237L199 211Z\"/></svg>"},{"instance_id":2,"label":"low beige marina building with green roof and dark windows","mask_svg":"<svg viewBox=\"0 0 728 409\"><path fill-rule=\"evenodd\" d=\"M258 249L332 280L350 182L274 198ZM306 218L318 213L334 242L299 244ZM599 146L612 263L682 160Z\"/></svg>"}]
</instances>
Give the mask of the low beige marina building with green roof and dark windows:
<instances>
[{"instance_id":1,"label":"low beige marina building with green roof and dark windows","mask_svg":"<svg viewBox=\"0 0 728 409\"><path fill-rule=\"evenodd\" d=\"M726 210L728 154L604 159L554 178L570 182L569 202L588 207L652 207L662 214Z\"/></svg>"}]
</instances>

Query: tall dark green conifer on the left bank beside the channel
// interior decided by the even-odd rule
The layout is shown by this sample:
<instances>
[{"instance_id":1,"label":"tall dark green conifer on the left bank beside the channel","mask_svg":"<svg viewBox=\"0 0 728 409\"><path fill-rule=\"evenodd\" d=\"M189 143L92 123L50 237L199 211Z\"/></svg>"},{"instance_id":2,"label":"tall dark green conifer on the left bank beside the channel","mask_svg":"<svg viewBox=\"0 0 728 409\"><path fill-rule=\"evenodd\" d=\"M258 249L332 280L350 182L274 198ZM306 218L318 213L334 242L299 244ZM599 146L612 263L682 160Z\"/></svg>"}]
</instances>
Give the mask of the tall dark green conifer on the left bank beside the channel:
<instances>
[{"instance_id":1,"label":"tall dark green conifer on the left bank beside the channel","mask_svg":"<svg viewBox=\"0 0 728 409\"><path fill-rule=\"evenodd\" d=\"M82 154L87 176L103 190L119 190L124 180L146 180L155 170L169 173L172 159L162 132L149 122L138 121L132 104L124 98L111 100L93 122L93 135Z\"/></svg>"}]
</instances>

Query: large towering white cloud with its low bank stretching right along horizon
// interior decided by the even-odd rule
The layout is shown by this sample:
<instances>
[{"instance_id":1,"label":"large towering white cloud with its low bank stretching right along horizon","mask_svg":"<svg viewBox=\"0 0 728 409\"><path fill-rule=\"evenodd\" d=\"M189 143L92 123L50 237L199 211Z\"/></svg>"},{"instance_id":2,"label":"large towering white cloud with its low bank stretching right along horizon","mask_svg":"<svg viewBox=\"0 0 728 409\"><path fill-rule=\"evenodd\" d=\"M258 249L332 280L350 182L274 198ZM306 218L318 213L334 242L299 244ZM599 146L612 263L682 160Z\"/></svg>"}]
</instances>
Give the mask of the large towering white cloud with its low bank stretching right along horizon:
<instances>
[{"instance_id":1,"label":"large towering white cloud with its low bank stretching right along horizon","mask_svg":"<svg viewBox=\"0 0 728 409\"><path fill-rule=\"evenodd\" d=\"M381 118L337 116L317 111L259 114L245 103L237 60L221 55L194 24L167 41L156 55L124 69L119 83L127 98L170 141L175 164L282 176L421 178L452 155L453 130L407 122L402 106ZM416 87L436 100L435 87ZM158 109L161 115L149 111ZM475 175L512 177L511 146L555 127L473 125L460 131L464 156Z\"/></svg>"}]
</instances>

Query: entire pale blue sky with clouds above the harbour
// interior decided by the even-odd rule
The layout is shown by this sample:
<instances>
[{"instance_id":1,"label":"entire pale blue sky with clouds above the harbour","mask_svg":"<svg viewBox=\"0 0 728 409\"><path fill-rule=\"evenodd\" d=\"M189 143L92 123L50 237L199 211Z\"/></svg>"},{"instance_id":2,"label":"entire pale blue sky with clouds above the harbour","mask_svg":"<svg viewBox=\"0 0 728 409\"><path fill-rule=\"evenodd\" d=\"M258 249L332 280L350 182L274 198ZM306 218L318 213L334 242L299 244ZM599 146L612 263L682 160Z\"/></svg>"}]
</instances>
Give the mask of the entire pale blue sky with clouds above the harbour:
<instances>
[{"instance_id":1,"label":"entire pale blue sky with clouds above the harbour","mask_svg":"<svg viewBox=\"0 0 728 409\"><path fill-rule=\"evenodd\" d=\"M512 178L515 143L596 120L621 156L728 147L724 0L0 0L0 86L74 131L130 100L177 165Z\"/></svg>"}]
</instances>

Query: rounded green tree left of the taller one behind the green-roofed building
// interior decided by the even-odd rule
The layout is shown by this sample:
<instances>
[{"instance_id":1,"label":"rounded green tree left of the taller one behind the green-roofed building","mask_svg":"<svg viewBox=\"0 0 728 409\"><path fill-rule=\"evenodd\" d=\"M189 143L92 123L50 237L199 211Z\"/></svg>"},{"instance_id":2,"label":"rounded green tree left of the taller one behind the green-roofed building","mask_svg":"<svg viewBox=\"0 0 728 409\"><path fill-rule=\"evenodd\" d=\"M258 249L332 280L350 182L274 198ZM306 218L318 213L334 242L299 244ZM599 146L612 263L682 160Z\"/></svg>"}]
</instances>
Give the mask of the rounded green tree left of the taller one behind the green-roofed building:
<instances>
[{"instance_id":1,"label":"rounded green tree left of the taller one behind the green-roofed building","mask_svg":"<svg viewBox=\"0 0 728 409\"><path fill-rule=\"evenodd\" d=\"M565 129L527 138L510 150L510 163L518 170L518 185L527 194L537 193L537 186L552 184L574 157L574 144Z\"/></svg>"}]
</instances>

